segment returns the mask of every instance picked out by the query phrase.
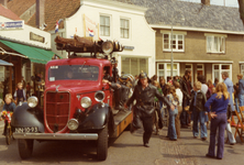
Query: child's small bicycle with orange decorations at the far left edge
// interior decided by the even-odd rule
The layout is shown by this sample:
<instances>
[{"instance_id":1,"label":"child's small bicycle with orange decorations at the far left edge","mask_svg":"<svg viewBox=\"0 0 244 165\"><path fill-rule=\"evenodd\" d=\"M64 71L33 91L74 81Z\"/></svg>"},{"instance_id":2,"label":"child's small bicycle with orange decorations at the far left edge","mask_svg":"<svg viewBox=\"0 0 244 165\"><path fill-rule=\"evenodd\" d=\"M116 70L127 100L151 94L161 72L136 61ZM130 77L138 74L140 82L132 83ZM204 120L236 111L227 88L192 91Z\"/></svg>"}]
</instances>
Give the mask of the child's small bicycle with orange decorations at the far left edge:
<instances>
[{"instance_id":1,"label":"child's small bicycle with orange decorations at the far left edge","mask_svg":"<svg viewBox=\"0 0 244 165\"><path fill-rule=\"evenodd\" d=\"M10 111L2 111L1 117L4 119L4 121L8 122L7 129L5 129L5 143L10 145L11 139L13 139L13 132L11 129L11 117L13 112Z\"/></svg>"}]
</instances>

